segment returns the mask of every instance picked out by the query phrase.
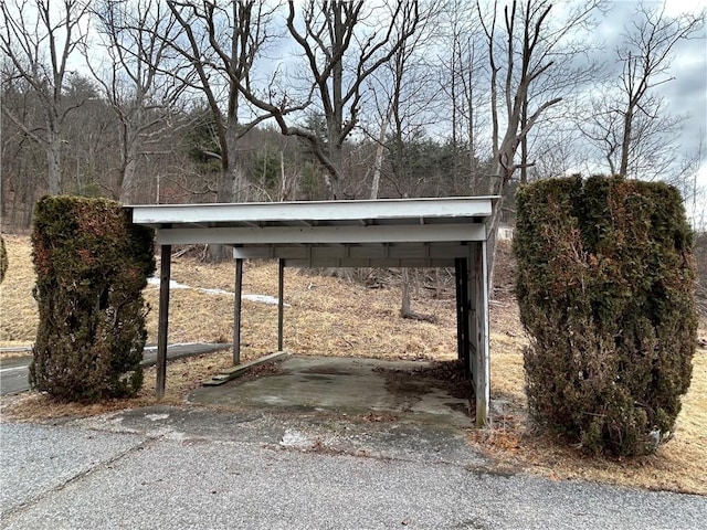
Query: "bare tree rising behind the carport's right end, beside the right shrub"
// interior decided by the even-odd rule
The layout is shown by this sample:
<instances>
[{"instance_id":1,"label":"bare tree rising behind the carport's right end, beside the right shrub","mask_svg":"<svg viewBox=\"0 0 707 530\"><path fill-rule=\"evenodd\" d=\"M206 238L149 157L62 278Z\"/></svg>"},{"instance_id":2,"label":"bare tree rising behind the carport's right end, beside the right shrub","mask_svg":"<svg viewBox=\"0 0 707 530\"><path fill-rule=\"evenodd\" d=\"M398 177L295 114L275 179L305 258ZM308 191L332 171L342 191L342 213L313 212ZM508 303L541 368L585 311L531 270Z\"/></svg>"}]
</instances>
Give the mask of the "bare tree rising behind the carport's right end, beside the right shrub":
<instances>
[{"instance_id":1,"label":"bare tree rising behind the carport's right end, beside the right shrub","mask_svg":"<svg viewBox=\"0 0 707 530\"><path fill-rule=\"evenodd\" d=\"M563 92L569 89L567 84L553 86L552 83L548 84L548 80L556 74L559 59L567 61L568 56L579 53L580 50L571 44L570 38L592 22L592 14L601 7L601 0L584 2L567 11L561 20L550 15L552 3L549 0L514 0L503 10L500 30L497 1L494 1L490 20L484 17L479 2L476 7L486 35L490 75L495 171L488 192L502 195L493 215L488 243L489 285L493 285L503 193L516 170L531 163L528 160L516 162L518 147L548 109L562 100ZM527 153L524 158L527 158Z\"/></svg>"}]
</instances>

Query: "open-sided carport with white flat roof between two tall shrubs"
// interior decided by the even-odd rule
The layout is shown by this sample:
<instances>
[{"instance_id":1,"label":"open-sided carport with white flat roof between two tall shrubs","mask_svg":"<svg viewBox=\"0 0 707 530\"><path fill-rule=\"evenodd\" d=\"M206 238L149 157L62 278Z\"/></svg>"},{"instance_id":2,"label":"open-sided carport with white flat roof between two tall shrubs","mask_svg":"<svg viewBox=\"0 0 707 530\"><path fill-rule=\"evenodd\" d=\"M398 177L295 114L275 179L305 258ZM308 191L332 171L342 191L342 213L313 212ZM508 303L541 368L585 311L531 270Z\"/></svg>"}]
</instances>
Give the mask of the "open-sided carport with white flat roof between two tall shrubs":
<instances>
[{"instance_id":1,"label":"open-sided carport with white flat roof between two tall shrubs","mask_svg":"<svg viewBox=\"0 0 707 530\"><path fill-rule=\"evenodd\" d=\"M240 363L243 259L279 264L277 350L286 267L454 267L457 354L472 378L476 425L488 421L486 241L495 197L126 206L161 247L156 391L165 391L172 245L233 246L233 362Z\"/></svg>"}]
</instances>

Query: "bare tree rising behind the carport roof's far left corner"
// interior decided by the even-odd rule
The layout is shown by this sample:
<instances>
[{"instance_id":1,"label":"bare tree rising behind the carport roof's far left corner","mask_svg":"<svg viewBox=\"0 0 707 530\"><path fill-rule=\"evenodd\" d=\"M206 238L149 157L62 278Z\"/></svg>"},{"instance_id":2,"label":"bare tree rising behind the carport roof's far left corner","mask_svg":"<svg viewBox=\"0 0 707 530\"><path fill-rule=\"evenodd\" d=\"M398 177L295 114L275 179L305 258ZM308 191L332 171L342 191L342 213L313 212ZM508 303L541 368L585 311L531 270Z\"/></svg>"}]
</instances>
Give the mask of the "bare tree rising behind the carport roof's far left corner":
<instances>
[{"instance_id":1,"label":"bare tree rising behind the carport roof's far left corner","mask_svg":"<svg viewBox=\"0 0 707 530\"><path fill-rule=\"evenodd\" d=\"M91 56L85 50L84 54L116 117L119 167L110 191L127 202L136 186L138 160L155 155L161 139L178 129L175 107L188 84L175 83L175 76L165 73L179 67L169 55L168 43L156 38L171 34L175 28L176 20L165 4L158 0L101 0L94 2L92 12L102 52ZM184 72L184 78L190 74Z\"/></svg>"}]
</instances>

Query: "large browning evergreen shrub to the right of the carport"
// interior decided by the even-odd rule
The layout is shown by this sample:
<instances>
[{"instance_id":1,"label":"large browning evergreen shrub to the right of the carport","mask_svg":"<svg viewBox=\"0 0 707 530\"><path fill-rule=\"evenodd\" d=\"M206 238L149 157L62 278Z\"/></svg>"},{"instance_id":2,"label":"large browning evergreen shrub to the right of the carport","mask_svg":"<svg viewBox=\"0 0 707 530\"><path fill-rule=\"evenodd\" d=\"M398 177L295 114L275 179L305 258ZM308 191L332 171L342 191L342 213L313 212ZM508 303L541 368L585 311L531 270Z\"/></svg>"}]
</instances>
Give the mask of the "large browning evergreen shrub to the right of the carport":
<instances>
[{"instance_id":1,"label":"large browning evergreen shrub to the right of the carport","mask_svg":"<svg viewBox=\"0 0 707 530\"><path fill-rule=\"evenodd\" d=\"M620 177L520 189L514 252L532 418L590 453L673 431L696 347L693 236L679 192Z\"/></svg>"}]
</instances>

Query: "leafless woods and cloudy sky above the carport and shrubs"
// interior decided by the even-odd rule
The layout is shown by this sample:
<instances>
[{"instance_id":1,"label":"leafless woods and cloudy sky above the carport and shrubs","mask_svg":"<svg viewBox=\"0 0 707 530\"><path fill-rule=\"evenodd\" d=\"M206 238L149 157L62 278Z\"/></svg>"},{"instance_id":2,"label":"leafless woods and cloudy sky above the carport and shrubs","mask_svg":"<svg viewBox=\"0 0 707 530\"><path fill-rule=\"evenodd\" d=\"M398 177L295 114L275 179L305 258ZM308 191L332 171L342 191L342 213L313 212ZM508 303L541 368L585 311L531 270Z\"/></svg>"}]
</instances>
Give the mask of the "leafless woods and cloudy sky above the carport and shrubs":
<instances>
[{"instance_id":1,"label":"leafless woods and cloudy sky above the carport and shrubs","mask_svg":"<svg viewBox=\"0 0 707 530\"><path fill-rule=\"evenodd\" d=\"M572 172L677 186L701 152L661 95L705 12L613 2L7 0L1 213L124 203L498 193Z\"/></svg>"}]
</instances>

